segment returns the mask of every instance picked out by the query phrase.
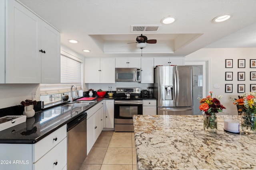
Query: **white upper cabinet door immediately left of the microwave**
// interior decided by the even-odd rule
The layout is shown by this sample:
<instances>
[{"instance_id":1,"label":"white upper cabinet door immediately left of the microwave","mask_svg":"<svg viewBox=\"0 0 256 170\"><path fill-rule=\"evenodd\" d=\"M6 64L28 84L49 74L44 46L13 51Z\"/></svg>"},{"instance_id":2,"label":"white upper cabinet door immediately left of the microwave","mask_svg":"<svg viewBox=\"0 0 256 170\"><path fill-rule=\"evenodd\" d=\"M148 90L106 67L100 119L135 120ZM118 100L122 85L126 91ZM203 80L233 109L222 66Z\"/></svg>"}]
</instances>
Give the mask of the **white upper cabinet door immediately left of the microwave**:
<instances>
[{"instance_id":1,"label":"white upper cabinet door immediately left of the microwave","mask_svg":"<svg viewBox=\"0 0 256 170\"><path fill-rule=\"evenodd\" d=\"M100 83L116 83L115 79L115 59L100 59Z\"/></svg>"}]
</instances>

